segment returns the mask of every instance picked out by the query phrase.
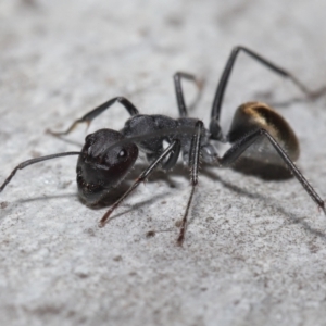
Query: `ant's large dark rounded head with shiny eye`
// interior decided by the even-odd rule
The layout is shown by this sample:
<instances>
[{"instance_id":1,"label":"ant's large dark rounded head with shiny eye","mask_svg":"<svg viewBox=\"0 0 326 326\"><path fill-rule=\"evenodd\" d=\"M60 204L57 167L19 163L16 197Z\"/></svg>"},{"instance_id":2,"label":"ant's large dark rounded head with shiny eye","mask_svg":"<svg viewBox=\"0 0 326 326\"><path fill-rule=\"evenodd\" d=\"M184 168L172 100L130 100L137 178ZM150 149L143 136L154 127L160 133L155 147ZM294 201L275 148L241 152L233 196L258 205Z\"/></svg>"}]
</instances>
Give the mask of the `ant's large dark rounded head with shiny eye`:
<instances>
[{"instance_id":1,"label":"ant's large dark rounded head with shiny eye","mask_svg":"<svg viewBox=\"0 0 326 326\"><path fill-rule=\"evenodd\" d=\"M77 185L79 196L88 204L105 197L137 160L137 146L123 139L121 133L111 129L100 129L86 137L77 162Z\"/></svg>"}]
</instances>

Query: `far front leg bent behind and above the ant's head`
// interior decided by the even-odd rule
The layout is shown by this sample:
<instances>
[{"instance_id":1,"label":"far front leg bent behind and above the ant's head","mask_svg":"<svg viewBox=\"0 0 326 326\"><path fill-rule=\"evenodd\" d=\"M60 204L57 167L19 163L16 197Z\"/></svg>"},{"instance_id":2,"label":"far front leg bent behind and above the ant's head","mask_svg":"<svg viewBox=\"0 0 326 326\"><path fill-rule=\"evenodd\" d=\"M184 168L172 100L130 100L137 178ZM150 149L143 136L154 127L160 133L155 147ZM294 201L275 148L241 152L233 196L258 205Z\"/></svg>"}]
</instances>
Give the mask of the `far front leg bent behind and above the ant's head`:
<instances>
[{"instance_id":1,"label":"far front leg bent behind and above the ant's head","mask_svg":"<svg viewBox=\"0 0 326 326\"><path fill-rule=\"evenodd\" d=\"M126 98L124 97L116 97L113 98L106 102L104 102L103 104L95 108L93 110L91 110L90 112L88 112L87 114L85 114L83 117L76 120L65 131L62 133L55 133L55 131L51 131L50 129L47 130L48 134L51 134L53 136L64 136L64 135L68 135L71 131L73 131L75 129L75 127L80 124L80 123L86 123L87 126L90 125L91 121L93 118L96 118L98 115L100 115L101 113L103 113L106 109L109 109L111 105L113 105L115 102L121 103L123 106L125 106L128 111L128 113L133 116L139 113L139 111L136 109L136 106Z\"/></svg>"}]
</instances>

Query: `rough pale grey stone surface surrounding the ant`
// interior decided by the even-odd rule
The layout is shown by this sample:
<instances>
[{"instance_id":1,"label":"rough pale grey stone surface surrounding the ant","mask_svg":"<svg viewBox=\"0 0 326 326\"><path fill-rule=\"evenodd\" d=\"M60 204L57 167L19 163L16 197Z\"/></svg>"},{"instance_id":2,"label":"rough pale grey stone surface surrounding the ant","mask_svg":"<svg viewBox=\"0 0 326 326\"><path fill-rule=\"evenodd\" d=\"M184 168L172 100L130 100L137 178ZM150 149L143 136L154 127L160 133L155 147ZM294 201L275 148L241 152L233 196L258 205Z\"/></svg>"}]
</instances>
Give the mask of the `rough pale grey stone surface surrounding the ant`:
<instances>
[{"instance_id":1,"label":"rough pale grey stone surface surrounding the ant","mask_svg":"<svg viewBox=\"0 0 326 326\"><path fill-rule=\"evenodd\" d=\"M325 86L325 12L317 0L2 0L1 180L26 159L79 150L84 126L66 140L45 129L63 129L111 97L176 117L171 77L178 70L205 79L191 114L208 123L239 43L312 89ZM186 91L191 100L195 89ZM223 127L243 101L298 96L241 54ZM326 97L279 109L301 141L299 166L324 198L325 105ZM126 118L116 105L89 131L121 128ZM78 200L75 162L21 171L0 196L1 325L326 325L326 218L297 180L203 168L179 248L187 171L156 173L99 229L105 209Z\"/></svg>"}]
</instances>

